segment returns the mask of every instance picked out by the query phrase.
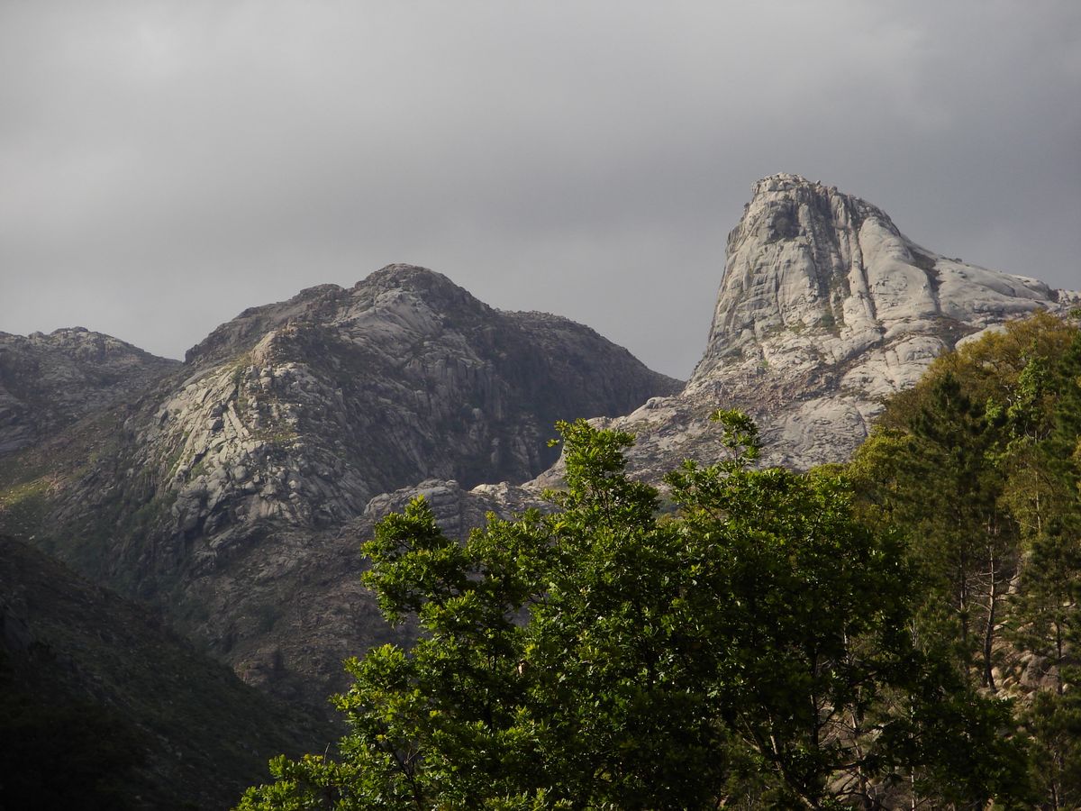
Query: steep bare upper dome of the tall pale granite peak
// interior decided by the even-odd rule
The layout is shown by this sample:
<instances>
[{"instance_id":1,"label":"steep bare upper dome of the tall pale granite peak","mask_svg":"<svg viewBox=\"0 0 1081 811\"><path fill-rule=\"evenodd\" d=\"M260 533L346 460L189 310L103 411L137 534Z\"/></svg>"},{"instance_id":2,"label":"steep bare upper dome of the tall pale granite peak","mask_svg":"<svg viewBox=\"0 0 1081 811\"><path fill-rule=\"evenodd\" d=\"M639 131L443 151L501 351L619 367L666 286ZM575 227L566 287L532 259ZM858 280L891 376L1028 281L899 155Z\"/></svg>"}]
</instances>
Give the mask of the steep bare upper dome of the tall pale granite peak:
<instances>
[{"instance_id":1,"label":"steep bare upper dome of the tall pale granite peak","mask_svg":"<svg viewBox=\"0 0 1081 811\"><path fill-rule=\"evenodd\" d=\"M876 348L930 358L963 334L1055 301L1035 279L939 256L905 237L880 209L795 174L753 186L729 236L709 342L691 387L739 367L797 374L856 363L846 385L882 395L911 383L904 363L884 380L856 362ZM880 360L880 358L879 358ZM899 375L899 376L898 376ZM820 375L819 375L820 377ZM820 381L822 382L822 381Z\"/></svg>"}]
</instances>

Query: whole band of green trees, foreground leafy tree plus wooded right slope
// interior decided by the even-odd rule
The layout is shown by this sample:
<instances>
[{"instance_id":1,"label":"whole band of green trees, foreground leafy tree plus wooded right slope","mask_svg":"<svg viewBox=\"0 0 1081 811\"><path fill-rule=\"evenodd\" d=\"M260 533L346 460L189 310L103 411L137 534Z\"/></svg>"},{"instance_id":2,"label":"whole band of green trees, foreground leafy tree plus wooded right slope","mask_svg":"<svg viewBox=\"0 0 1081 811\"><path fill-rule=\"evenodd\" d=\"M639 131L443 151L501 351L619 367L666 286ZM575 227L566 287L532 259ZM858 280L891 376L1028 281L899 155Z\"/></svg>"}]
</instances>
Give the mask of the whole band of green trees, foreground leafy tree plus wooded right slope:
<instances>
[{"instance_id":1,"label":"whole band of green trees, foreground leafy tree plus wooded right slope","mask_svg":"<svg viewBox=\"0 0 1081 811\"><path fill-rule=\"evenodd\" d=\"M756 469L715 418L675 509L579 422L551 513L384 520L366 582L422 639L350 661L336 756L241 808L1081 805L1078 329L940 359L845 467Z\"/></svg>"}]
</instances>

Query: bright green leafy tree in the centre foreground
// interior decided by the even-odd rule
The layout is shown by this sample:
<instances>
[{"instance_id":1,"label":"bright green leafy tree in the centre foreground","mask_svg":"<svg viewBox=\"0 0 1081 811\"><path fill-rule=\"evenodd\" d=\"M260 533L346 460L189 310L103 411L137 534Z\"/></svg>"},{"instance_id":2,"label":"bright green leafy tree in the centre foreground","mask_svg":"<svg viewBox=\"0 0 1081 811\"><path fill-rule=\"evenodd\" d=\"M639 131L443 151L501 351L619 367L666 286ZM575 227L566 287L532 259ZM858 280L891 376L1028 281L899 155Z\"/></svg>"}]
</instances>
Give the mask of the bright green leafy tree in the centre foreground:
<instances>
[{"instance_id":1,"label":"bright green leafy tree in the centre foreground","mask_svg":"<svg viewBox=\"0 0 1081 811\"><path fill-rule=\"evenodd\" d=\"M464 544L422 498L382 521L365 581L422 638L348 662L336 757L275 760L241 808L870 807L917 775L921 798L1023 794L1006 707L913 643L897 536L836 470L749 469L753 423L715 418L732 455L668 477L675 517L624 473L629 435L578 422L553 511Z\"/></svg>"}]
</instances>

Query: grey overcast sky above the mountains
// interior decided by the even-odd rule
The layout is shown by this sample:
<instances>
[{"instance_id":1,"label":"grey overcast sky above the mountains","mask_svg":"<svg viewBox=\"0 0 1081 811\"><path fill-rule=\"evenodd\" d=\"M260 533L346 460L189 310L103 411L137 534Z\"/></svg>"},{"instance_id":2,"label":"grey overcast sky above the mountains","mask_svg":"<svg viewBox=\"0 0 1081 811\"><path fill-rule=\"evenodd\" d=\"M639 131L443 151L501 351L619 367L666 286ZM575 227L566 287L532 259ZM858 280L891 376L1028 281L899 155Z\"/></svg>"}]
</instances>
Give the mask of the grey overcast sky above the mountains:
<instances>
[{"instance_id":1,"label":"grey overcast sky above the mountains","mask_svg":"<svg viewBox=\"0 0 1081 811\"><path fill-rule=\"evenodd\" d=\"M409 262L686 376L778 171L1081 288L1081 2L0 2L0 331Z\"/></svg>"}]
</instances>

